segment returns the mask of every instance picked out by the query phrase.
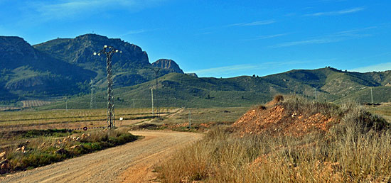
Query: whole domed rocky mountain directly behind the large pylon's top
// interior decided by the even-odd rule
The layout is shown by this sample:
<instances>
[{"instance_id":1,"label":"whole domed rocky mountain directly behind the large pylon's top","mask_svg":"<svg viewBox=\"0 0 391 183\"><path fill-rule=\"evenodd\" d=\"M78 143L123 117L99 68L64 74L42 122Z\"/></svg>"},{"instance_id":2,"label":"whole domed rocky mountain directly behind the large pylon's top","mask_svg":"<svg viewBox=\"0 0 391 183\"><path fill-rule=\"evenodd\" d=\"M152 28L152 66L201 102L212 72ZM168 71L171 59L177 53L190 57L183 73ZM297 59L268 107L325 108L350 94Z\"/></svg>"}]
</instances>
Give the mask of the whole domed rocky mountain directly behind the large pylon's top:
<instances>
[{"instance_id":1,"label":"whole domed rocky mountain directly behind the large pylon's top","mask_svg":"<svg viewBox=\"0 0 391 183\"><path fill-rule=\"evenodd\" d=\"M85 34L73 39L58 38L33 45L33 47L48 55L53 55L59 60L96 72L97 87L105 88L107 87L106 57L105 55L100 57L93 55L93 52L102 50L104 45L110 45L122 51L112 57L114 87L132 86L175 72L171 68L164 68L156 75L148 55L139 46L102 35Z\"/></svg>"}]
</instances>

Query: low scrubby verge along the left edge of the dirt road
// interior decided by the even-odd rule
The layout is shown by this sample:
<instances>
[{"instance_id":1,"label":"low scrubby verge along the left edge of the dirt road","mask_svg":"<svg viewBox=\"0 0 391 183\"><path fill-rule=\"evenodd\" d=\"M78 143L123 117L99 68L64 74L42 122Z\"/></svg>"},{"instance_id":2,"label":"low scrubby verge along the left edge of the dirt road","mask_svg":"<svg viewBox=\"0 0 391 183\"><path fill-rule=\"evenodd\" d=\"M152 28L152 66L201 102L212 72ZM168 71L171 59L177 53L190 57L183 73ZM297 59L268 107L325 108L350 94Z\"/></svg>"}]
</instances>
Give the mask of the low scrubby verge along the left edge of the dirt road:
<instances>
[{"instance_id":1,"label":"low scrubby verge along the left edge of the dirt road","mask_svg":"<svg viewBox=\"0 0 391 183\"><path fill-rule=\"evenodd\" d=\"M0 150L0 174L41 167L136 140L128 131L129 128L82 134L66 130L28 131L22 135L31 140ZM68 136L59 137L64 134Z\"/></svg>"}]
</instances>

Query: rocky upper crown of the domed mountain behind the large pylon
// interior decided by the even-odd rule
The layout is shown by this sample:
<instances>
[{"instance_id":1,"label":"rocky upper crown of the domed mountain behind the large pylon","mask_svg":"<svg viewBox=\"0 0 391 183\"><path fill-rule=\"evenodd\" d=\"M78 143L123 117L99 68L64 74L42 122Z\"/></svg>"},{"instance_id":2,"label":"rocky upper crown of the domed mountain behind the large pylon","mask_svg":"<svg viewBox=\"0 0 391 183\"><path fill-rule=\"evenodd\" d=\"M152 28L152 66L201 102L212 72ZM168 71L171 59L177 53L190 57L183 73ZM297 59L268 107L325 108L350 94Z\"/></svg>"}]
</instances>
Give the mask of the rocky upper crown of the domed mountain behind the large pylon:
<instances>
[{"instance_id":1,"label":"rocky upper crown of the domed mountain behind the large pylon","mask_svg":"<svg viewBox=\"0 0 391 183\"><path fill-rule=\"evenodd\" d=\"M97 34L80 35L73 39L58 38L34 45L34 48L49 55L55 55L65 62L85 67L85 69L90 69L93 65L105 71L106 57L93 55L94 52L102 50L104 45L110 45L122 51L113 56L113 70L126 71L134 67L150 65L148 55L139 46Z\"/></svg>"}]
</instances>

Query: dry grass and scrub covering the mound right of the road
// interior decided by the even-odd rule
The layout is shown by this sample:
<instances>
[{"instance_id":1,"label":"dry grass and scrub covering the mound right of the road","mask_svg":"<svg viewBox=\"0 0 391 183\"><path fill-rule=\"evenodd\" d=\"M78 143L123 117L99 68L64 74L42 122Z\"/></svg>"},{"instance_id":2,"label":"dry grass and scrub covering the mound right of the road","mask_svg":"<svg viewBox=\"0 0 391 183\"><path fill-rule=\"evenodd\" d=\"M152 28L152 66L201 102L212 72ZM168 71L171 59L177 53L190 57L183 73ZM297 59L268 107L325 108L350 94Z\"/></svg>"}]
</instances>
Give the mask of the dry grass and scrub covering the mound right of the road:
<instances>
[{"instance_id":1,"label":"dry grass and scrub covering the mound right of the road","mask_svg":"<svg viewBox=\"0 0 391 183\"><path fill-rule=\"evenodd\" d=\"M294 110L302 116L323 113L336 118L333 126L300 134L215 128L156 167L159 178L162 182L391 181L391 130L384 119L357 104L285 98L266 105L267 109L280 105L284 112Z\"/></svg>"}]
</instances>

